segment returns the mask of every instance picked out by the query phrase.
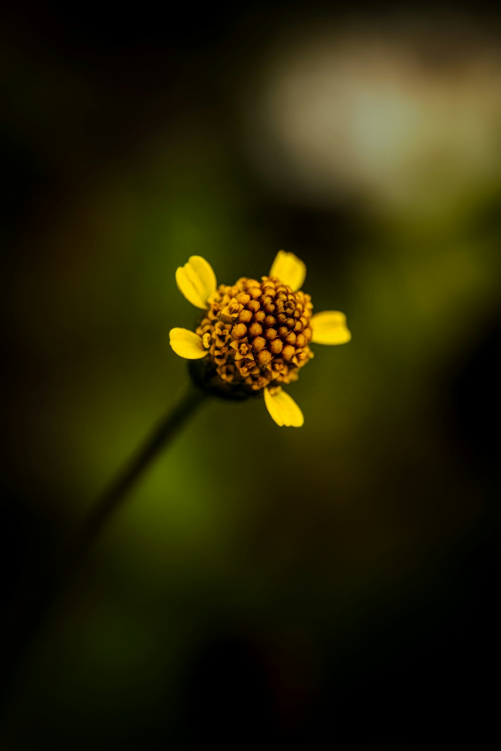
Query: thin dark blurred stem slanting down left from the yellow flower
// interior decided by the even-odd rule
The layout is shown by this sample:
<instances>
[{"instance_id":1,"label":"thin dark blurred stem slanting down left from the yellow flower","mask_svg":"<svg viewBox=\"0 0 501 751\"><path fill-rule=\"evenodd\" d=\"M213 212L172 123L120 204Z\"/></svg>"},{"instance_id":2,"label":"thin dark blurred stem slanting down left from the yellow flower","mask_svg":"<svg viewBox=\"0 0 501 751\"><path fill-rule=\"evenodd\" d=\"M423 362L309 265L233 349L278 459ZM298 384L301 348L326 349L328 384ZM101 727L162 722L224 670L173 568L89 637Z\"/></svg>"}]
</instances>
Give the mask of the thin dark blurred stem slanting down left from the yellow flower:
<instances>
[{"instance_id":1,"label":"thin dark blurred stem slanting down left from the yellow flower","mask_svg":"<svg viewBox=\"0 0 501 751\"><path fill-rule=\"evenodd\" d=\"M166 448L195 414L206 394L190 384L180 403L149 433L146 440L107 487L95 505L83 517L68 541L53 557L42 574L35 573L29 590L20 593L6 629L2 629L0 659L0 711L8 700L20 669L26 665L28 653L59 595L65 590L80 562L108 523L119 510L128 493L149 468L160 451Z\"/></svg>"}]
</instances>

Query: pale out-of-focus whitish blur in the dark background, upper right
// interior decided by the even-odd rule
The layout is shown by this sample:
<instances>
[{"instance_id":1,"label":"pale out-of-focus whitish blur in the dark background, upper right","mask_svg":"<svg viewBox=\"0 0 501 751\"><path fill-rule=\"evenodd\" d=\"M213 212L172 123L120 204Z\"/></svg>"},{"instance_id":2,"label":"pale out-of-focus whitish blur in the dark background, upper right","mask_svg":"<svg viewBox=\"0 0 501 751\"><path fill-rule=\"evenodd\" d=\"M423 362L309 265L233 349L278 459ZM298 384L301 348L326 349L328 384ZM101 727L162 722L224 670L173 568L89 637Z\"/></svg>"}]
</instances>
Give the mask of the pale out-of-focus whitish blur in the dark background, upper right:
<instances>
[{"instance_id":1,"label":"pale out-of-focus whitish blur in the dark background, upper right","mask_svg":"<svg viewBox=\"0 0 501 751\"><path fill-rule=\"evenodd\" d=\"M451 44L434 63L422 44L316 32L275 51L246 111L258 170L317 204L358 195L418 210L454 204L501 175L496 47L469 54Z\"/></svg>"}]
</instances>

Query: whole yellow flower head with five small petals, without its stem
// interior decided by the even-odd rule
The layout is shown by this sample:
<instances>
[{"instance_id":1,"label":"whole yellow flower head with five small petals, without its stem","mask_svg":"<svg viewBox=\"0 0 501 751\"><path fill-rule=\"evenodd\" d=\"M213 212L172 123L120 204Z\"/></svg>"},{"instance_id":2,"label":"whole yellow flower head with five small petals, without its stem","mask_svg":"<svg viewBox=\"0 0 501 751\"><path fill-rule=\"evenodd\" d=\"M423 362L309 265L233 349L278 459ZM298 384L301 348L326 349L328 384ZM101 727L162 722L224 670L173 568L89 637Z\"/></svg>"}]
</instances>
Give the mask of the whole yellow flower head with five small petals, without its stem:
<instances>
[{"instance_id":1,"label":"whole yellow flower head with five small petals, without its stem","mask_svg":"<svg viewBox=\"0 0 501 751\"><path fill-rule=\"evenodd\" d=\"M346 316L334 310L312 315L309 294L300 290L306 267L280 250L261 282L245 276L217 286L212 267L192 255L178 268L176 282L190 303L204 309L195 331L171 330L171 347L187 360L203 360L196 376L206 388L234 397L264 391L277 425L300 427L303 413L282 391L296 381L313 357L309 345L345 344L351 339Z\"/></svg>"}]
</instances>

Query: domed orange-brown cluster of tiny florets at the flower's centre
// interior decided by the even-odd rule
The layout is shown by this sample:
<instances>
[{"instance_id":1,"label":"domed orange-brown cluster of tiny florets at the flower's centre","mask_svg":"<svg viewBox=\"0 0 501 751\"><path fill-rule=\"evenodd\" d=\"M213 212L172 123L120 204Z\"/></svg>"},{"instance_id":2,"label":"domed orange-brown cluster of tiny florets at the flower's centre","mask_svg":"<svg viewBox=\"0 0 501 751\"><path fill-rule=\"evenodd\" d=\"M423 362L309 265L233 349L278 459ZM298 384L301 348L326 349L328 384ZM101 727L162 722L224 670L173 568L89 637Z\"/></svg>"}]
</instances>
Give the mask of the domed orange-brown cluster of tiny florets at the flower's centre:
<instances>
[{"instance_id":1,"label":"domed orange-brown cluster of tiny florets at the flower's centre","mask_svg":"<svg viewBox=\"0 0 501 751\"><path fill-rule=\"evenodd\" d=\"M196 329L222 381L252 391L297 380L313 356L309 294L271 276L219 285Z\"/></svg>"}]
</instances>

